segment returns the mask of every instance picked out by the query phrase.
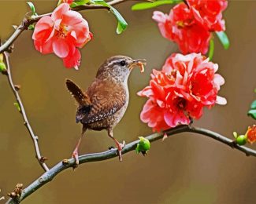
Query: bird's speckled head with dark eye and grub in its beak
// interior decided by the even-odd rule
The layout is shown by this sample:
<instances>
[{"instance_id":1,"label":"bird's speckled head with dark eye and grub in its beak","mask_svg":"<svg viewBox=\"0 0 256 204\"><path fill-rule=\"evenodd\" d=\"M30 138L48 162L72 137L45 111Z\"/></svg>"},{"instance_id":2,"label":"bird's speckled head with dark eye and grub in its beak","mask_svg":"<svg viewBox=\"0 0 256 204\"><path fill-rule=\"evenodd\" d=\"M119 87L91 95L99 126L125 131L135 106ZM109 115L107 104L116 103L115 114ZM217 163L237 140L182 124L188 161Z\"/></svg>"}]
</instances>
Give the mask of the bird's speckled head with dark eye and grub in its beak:
<instances>
[{"instance_id":1,"label":"bird's speckled head with dark eye and grub in its beak","mask_svg":"<svg viewBox=\"0 0 256 204\"><path fill-rule=\"evenodd\" d=\"M144 59L132 60L129 56L112 56L98 68L96 78L109 78L117 82L125 82L134 67L139 67L143 72L144 65L146 65Z\"/></svg>"}]
</instances>

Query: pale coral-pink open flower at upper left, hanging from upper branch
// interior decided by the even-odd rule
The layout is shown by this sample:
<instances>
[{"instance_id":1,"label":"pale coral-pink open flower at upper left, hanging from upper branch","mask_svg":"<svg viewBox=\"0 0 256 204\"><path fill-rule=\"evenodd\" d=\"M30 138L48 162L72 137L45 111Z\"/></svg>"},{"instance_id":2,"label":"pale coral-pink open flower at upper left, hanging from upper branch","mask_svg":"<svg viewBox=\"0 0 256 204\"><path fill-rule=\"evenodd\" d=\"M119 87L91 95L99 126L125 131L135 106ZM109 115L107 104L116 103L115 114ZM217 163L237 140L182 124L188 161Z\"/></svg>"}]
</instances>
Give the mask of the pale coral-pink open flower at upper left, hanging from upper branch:
<instances>
[{"instance_id":1,"label":"pale coral-pink open flower at upper left, hanging from upper branch","mask_svg":"<svg viewBox=\"0 0 256 204\"><path fill-rule=\"evenodd\" d=\"M87 21L80 13L70 10L69 4L59 5L51 16L44 16L35 25L32 36L35 49L40 53L55 53L65 67L80 65L80 51L92 35Z\"/></svg>"}]
</instances>

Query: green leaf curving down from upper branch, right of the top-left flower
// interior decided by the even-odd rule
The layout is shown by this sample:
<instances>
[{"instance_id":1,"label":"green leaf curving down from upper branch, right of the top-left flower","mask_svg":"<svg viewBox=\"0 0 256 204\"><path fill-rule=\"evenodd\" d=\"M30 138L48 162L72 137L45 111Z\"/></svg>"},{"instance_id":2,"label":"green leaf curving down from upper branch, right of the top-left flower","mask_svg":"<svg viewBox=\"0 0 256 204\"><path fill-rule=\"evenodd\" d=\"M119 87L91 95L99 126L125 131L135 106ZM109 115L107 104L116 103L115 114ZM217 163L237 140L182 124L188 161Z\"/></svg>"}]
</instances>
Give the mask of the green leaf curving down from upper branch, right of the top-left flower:
<instances>
[{"instance_id":1,"label":"green leaf curving down from upper branch, right of the top-left flower","mask_svg":"<svg viewBox=\"0 0 256 204\"><path fill-rule=\"evenodd\" d=\"M96 5L105 5L109 8L109 10L113 13L113 15L117 18L117 34L121 34L126 27L128 26L126 20L124 20L124 17L117 11L117 9L113 8L113 6L109 5L103 0L94 0Z\"/></svg>"}]
</instances>

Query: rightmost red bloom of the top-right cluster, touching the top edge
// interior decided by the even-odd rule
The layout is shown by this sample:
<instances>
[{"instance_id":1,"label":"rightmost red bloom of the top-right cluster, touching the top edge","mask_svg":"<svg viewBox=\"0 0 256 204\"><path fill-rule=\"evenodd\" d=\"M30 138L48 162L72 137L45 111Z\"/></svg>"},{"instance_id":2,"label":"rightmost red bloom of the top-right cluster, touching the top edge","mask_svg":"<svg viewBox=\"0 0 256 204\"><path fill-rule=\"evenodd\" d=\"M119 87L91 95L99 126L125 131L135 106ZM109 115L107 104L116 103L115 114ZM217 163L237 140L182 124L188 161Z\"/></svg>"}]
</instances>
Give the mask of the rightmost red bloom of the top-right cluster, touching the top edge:
<instances>
[{"instance_id":1,"label":"rightmost red bloom of the top-right cluster, touching the top edge","mask_svg":"<svg viewBox=\"0 0 256 204\"><path fill-rule=\"evenodd\" d=\"M187 0L195 19L209 31L224 31L222 12L228 6L226 0Z\"/></svg>"}]
</instances>

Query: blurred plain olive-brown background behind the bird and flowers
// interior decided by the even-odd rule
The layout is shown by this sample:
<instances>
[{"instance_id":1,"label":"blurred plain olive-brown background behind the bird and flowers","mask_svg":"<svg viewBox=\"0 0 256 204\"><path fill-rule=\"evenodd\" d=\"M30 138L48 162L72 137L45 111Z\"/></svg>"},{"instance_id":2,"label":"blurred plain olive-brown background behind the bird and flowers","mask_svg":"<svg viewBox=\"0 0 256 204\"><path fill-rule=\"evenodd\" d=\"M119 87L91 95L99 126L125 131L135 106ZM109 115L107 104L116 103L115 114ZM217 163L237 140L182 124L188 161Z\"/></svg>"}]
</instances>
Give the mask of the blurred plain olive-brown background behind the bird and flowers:
<instances>
[{"instance_id":1,"label":"blurred plain olive-brown background behind the bird and flowers","mask_svg":"<svg viewBox=\"0 0 256 204\"><path fill-rule=\"evenodd\" d=\"M13 33L12 25L20 24L28 12L25 2L0 2L2 39ZM39 14L51 12L57 4L57 1L33 2ZM114 136L128 143L151 133L139 119L146 100L136 93L147 86L151 70L161 68L165 59L178 49L161 37L157 24L151 20L153 9L132 12L132 3L116 6L128 21L128 29L122 35L116 35L117 21L106 10L82 12L94 39L81 50L80 71L66 69L53 54L43 56L35 51L32 31L24 31L15 42L10 58L13 81L22 87L20 96L39 136L42 154L49 158L49 166L69 158L80 136L81 126L75 122L76 105L65 89L65 78L72 78L85 89L98 66L109 56L123 54L147 59L145 73L141 75L137 69L129 78L130 104L114 129ZM157 10L169 13L170 8L164 5ZM256 88L255 9L255 1L229 1L224 19L231 46L224 50L216 38L213 56L220 67L218 73L226 80L220 95L228 99L228 105L205 110L195 122L195 126L229 138L233 131L245 133L247 126L254 123L247 117L247 111L255 99ZM13 191L17 183L28 186L43 173L13 102L7 79L0 75L0 197ZM106 151L112 145L106 131L88 131L80 154ZM75 172L67 169L24 203L255 203L255 171L256 158L216 140L184 133L154 142L146 157L132 151L124 155L124 162L113 158L83 164Z\"/></svg>"}]
</instances>

